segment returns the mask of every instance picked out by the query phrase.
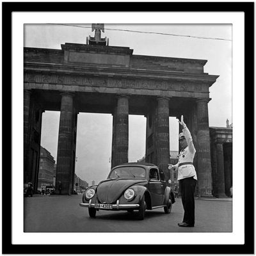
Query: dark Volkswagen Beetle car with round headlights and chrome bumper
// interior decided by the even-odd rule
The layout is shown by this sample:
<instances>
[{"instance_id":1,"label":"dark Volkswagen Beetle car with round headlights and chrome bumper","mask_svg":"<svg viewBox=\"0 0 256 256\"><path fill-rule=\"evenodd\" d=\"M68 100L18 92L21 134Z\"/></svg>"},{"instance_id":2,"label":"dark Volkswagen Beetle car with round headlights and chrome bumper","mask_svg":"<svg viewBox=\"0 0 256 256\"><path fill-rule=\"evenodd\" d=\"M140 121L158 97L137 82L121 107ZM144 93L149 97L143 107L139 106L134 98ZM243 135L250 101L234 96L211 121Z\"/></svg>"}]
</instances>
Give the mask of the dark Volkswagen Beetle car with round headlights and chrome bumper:
<instances>
[{"instance_id":1,"label":"dark Volkswagen Beetle car with round headlights and chrome bumper","mask_svg":"<svg viewBox=\"0 0 256 256\"><path fill-rule=\"evenodd\" d=\"M126 163L115 166L106 180L86 189L80 206L88 207L91 218L99 210L138 210L138 220L143 220L146 209L163 207L168 214L174 202L161 169L150 163Z\"/></svg>"}]
</instances>

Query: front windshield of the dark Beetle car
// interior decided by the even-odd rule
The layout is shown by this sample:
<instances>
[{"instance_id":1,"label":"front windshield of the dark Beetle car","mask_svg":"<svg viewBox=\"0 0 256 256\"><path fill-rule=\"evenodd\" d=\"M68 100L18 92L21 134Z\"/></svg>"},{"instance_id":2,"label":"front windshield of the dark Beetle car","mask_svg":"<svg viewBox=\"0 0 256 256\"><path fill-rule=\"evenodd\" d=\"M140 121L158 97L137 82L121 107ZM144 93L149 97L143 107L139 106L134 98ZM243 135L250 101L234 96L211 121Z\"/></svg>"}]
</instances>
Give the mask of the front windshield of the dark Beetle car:
<instances>
[{"instance_id":1,"label":"front windshield of the dark Beetle car","mask_svg":"<svg viewBox=\"0 0 256 256\"><path fill-rule=\"evenodd\" d=\"M109 178L118 177L133 177L133 178L145 178L145 169L138 166L124 166L115 168L109 175Z\"/></svg>"}]
</instances>

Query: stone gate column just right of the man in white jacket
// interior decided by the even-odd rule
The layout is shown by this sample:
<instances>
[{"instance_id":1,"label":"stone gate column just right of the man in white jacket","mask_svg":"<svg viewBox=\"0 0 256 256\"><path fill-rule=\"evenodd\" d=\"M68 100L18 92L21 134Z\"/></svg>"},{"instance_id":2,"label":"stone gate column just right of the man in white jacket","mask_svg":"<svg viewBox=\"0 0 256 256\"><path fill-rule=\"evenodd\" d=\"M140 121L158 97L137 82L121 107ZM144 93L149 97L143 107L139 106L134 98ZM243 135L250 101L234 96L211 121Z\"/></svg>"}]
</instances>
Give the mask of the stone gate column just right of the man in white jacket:
<instances>
[{"instance_id":1,"label":"stone gate column just right of the man in white jacket","mask_svg":"<svg viewBox=\"0 0 256 256\"><path fill-rule=\"evenodd\" d=\"M209 99L199 99L197 103L197 176L198 195L212 196L211 150L208 118Z\"/></svg>"}]
</instances>

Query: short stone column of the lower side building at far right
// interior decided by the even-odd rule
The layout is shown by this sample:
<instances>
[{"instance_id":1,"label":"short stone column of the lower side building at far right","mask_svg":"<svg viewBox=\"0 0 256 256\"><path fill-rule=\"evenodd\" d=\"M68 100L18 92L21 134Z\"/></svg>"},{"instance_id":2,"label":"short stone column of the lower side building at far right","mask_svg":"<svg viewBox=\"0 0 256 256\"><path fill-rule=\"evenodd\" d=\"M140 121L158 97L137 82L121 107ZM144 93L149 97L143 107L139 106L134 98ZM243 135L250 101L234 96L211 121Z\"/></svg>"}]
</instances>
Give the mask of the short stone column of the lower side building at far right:
<instances>
[{"instance_id":1,"label":"short stone column of the lower side building at far right","mask_svg":"<svg viewBox=\"0 0 256 256\"><path fill-rule=\"evenodd\" d=\"M217 186L218 186L218 197L225 195L225 178L224 178L224 157L223 157L223 144L220 142L216 143L216 154L217 154Z\"/></svg>"}]
</instances>

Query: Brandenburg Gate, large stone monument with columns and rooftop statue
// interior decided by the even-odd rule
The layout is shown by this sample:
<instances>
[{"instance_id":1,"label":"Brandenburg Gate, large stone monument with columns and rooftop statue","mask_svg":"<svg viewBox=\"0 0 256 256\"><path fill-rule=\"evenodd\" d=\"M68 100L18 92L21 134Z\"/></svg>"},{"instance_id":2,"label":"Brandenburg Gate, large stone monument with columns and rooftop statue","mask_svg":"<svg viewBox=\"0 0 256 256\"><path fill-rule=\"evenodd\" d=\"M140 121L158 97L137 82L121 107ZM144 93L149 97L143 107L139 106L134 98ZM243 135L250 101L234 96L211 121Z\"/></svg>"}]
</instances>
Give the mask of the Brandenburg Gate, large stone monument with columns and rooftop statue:
<instances>
[{"instance_id":1,"label":"Brandenburg Gate, large stone monument with columns and rooftop statue","mask_svg":"<svg viewBox=\"0 0 256 256\"><path fill-rule=\"evenodd\" d=\"M24 182L37 188L44 111L60 111L56 189L61 184L63 194L73 189L79 112L113 115L112 167L128 162L129 114L146 116L146 161L166 177L169 116L184 115L196 148L198 193L211 196L208 102L218 76L204 72L207 60L134 55L129 47L109 46L100 36L103 24L92 28L86 44L24 47Z\"/></svg>"}]
</instances>

